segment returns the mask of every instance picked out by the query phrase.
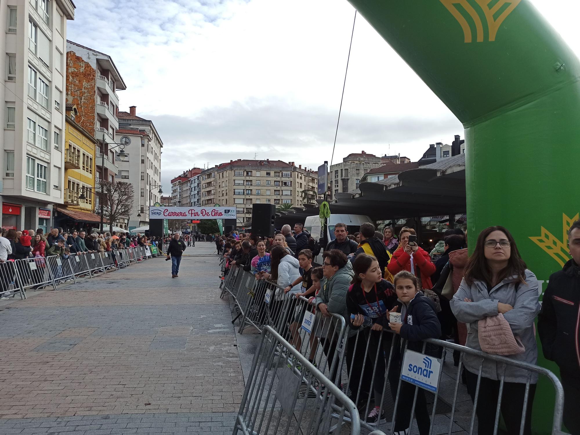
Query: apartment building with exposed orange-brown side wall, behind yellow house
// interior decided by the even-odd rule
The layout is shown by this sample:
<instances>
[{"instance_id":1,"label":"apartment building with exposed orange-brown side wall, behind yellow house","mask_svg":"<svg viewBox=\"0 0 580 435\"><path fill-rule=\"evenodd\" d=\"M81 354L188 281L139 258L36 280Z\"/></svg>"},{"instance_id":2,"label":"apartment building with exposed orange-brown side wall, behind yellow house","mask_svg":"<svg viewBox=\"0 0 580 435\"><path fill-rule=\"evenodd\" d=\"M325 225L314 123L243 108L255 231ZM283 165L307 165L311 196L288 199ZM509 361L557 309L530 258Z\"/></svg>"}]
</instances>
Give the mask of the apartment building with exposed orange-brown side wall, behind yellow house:
<instances>
[{"instance_id":1,"label":"apartment building with exposed orange-brown side wall, behind yellow house","mask_svg":"<svg viewBox=\"0 0 580 435\"><path fill-rule=\"evenodd\" d=\"M78 125L100 142L95 148L97 184L101 179L113 181L119 173L119 147L113 144L119 142L116 91L124 89L125 82L111 56L67 41L67 103L77 107Z\"/></svg>"}]
</instances>

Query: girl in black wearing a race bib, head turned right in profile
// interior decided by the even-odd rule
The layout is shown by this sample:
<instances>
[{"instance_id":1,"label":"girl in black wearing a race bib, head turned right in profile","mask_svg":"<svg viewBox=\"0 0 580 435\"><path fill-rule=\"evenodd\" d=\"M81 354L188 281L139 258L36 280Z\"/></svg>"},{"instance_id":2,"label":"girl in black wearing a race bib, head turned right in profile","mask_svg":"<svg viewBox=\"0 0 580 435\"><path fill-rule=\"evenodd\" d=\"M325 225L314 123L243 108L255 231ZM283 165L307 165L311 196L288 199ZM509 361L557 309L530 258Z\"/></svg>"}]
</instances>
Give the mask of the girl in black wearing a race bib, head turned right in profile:
<instances>
[{"instance_id":1,"label":"girl in black wearing a race bib, head turned right in profile","mask_svg":"<svg viewBox=\"0 0 580 435\"><path fill-rule=\"evenodd\" d=\"M389 329L389 311L397 305L397 295L393 284L382 278L384 268L379 266L375 257L367 254L358 254L353 263L354 276L352 285L346 295L346 306L354 319L349 317L349 326L358 329L365 317L372 320L372 326L365 328L358 337L357 348L347 352L347 357L353 359L353 367L350 370L350 389L353 395L357 394L360 372L362 371L361 395L368 393L371 384L373 367L376 361L375 381L373 390L375 393L375 406L369 412L366 407L366 421L371 426L385 422L385 412L382 411L382 394L385 384L385 358L391 358L389 366L389 382L393 400L396 397L398 385L398 361L392 360L396 354L393 348L393 334L389 331L383 334L383 329ZM368 345L367 361L362 367L365 350ZM393 348L391 350L391 348ZM379 349L381 349L379 351ZM379 353L379 356L377 356ZM359 367L360 366L360 367Z\"/></svg>"}]
</instances>

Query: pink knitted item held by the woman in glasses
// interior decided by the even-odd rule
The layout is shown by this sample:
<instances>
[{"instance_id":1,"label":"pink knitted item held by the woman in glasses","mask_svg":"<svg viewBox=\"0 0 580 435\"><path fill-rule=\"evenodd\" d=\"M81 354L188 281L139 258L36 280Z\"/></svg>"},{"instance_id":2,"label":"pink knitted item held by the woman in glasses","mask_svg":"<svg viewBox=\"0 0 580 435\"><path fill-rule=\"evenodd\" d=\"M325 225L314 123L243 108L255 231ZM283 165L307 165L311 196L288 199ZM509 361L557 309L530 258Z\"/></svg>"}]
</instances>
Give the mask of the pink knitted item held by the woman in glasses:
<instances>
[{"instance_id":1,"label":"pink knitted item held by the woman in glasses","mask_svg":"<svg viewBox=\"0 0 580 435\"><path fill-rule=\"evenodd\" d=\"M484 352L496 355L516 355L525 352L524 345L519 338L514 337L512 328L502 313L479 320L477 329L479 345Z\"/></svg>"}]
</instances>

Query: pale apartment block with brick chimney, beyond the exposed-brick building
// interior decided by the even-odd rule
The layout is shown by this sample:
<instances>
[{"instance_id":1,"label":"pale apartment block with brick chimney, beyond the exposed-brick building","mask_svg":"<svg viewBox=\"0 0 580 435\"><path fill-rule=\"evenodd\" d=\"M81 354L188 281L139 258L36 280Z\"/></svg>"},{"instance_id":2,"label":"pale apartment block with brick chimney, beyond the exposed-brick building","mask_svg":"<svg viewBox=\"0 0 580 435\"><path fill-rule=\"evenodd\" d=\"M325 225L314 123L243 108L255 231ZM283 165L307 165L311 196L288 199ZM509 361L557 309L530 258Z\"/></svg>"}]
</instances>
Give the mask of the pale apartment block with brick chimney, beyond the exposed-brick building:
<instances>
[{"instance_id":1,"label":"pale apartment block with brick chimney, beyond the exposed-brick building","mask_svg":"<svg viewBox=\"0 0 580 435\"><path fill-rule=\"evenodd\" d=\"M149 224L149 207L160 202L161 153L163 142L149 119L137 116L136 106L129 112L118 111L118 142L125 144L127 156L118 162L119 173L115 180L129 181L135 187L133 213L128 216L129 231Z\"/></svg>"}]
</instances>

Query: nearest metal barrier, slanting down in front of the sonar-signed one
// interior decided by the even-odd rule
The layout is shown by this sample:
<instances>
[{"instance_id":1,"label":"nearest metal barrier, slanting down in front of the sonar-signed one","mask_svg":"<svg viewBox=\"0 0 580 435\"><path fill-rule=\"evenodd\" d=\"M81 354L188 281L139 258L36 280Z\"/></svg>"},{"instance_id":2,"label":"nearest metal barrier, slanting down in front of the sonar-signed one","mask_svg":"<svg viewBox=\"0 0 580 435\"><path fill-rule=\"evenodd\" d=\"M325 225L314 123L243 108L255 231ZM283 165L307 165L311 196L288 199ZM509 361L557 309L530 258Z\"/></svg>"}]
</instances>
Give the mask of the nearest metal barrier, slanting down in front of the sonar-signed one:
<instances>
[{"instance_id":1,"label":"nearest metal barrier, slanting down in front of the sonar-signed one","mask_svg":"<svg viewBox=\"0 0 580 435\"><path fill-rule=\"evenodd\" d=\"M287 366L291 357L296 362ZM301 394L305 387L314 397ZM326 434L352 415L350 434L360 433L354 403L270 326L264 327L236 417L233 435Z\"/></svg>"}]
</instances>

